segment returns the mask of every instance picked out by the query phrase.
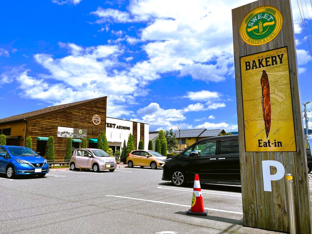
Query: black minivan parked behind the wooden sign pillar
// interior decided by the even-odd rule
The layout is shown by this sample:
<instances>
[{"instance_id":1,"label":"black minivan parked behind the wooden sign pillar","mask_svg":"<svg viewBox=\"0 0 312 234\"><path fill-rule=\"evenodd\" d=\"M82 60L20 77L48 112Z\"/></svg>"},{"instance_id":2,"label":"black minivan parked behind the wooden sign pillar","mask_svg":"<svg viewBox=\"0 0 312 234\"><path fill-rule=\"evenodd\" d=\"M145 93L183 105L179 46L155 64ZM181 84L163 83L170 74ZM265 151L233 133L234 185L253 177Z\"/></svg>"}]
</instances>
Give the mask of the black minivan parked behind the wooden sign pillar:
<instances>
[{"instance_id":1,"label":"black minivan parked behind the wooden sign pillar","mask_svg":"<svg viewBox=\"0 0 312 234\"><path fill-rule=\"evenodd\" d=\"M307 149L309 172L312 157ZM197 141L181 154L168 157L163 166L162 180L175 186L193 182L195 174L201 183L241 184L238 135L217 136Z\"/></svg>"}]
</instances>

